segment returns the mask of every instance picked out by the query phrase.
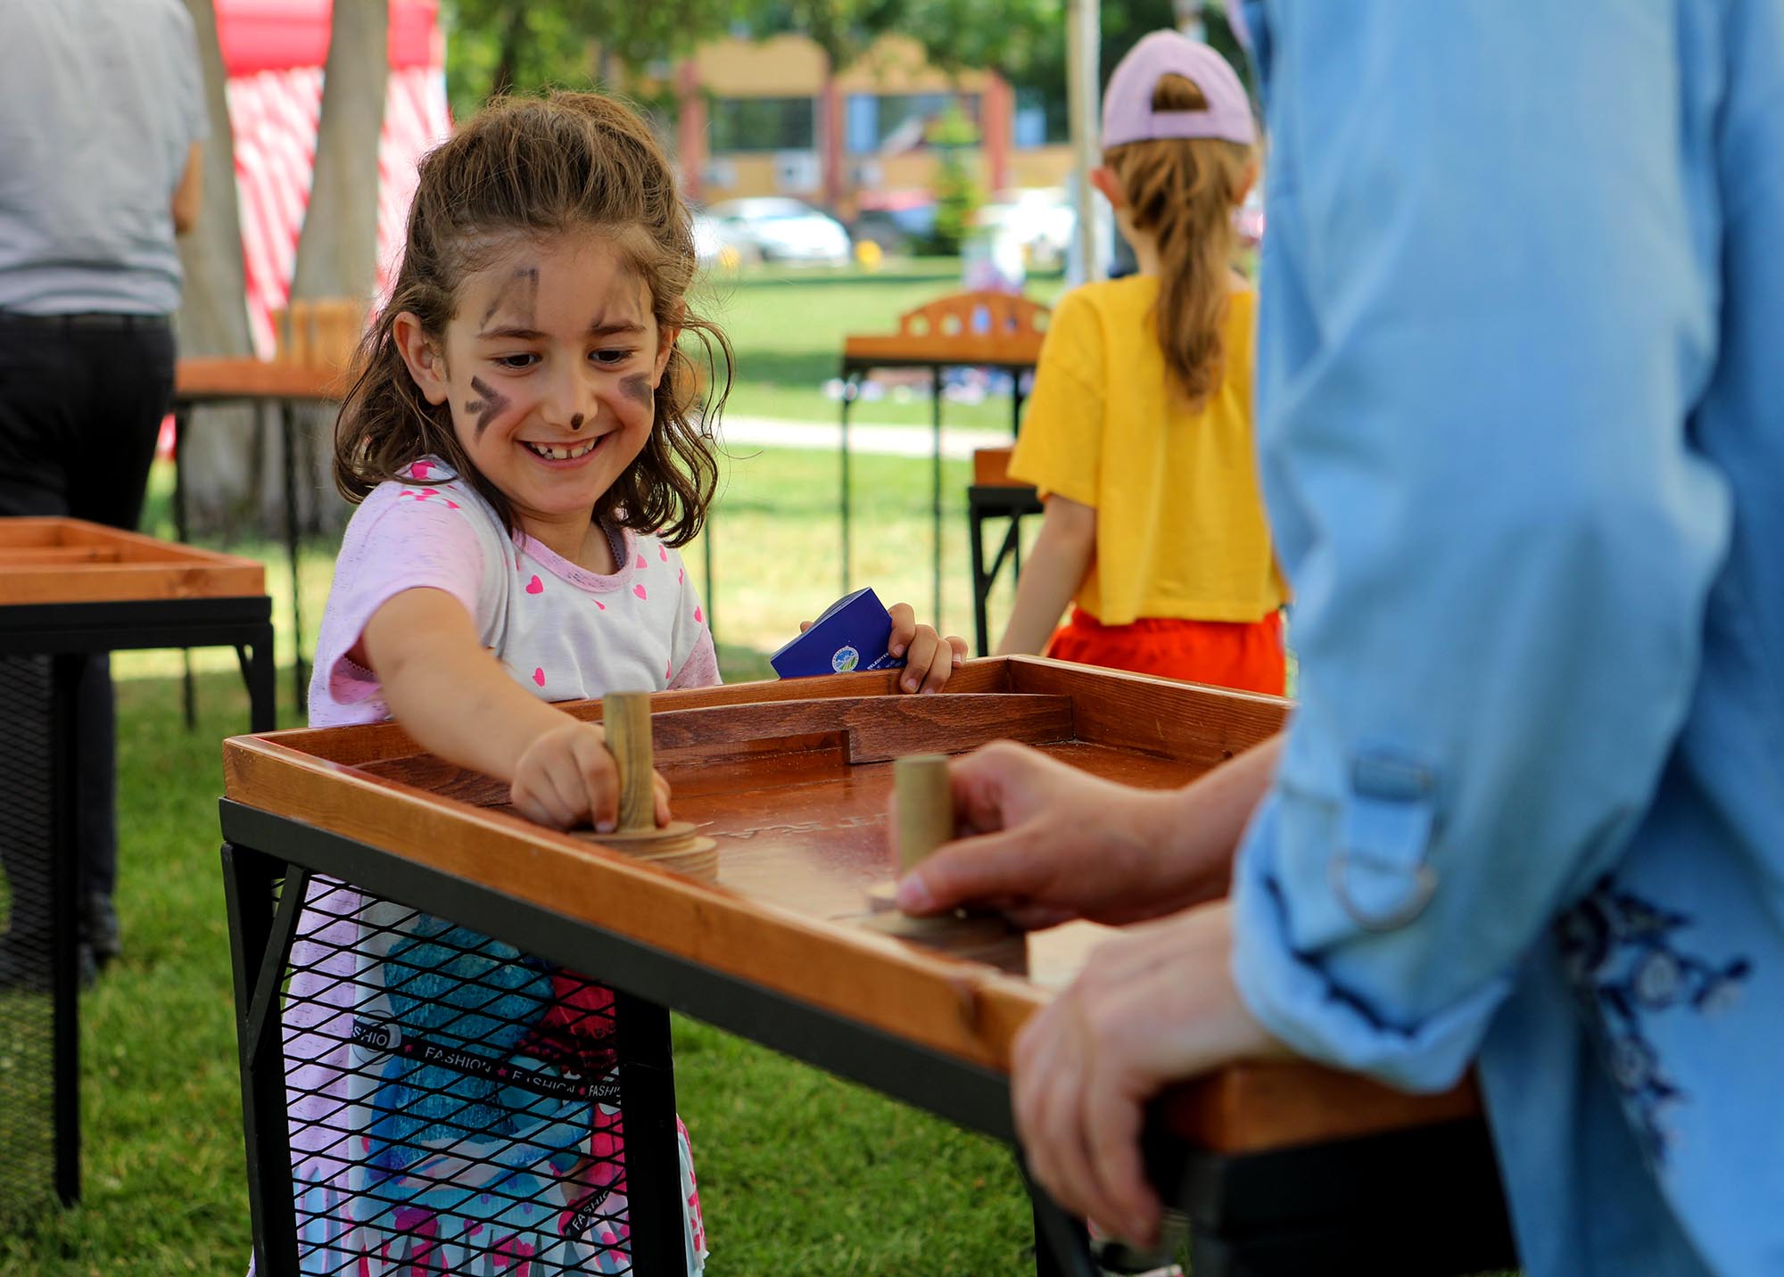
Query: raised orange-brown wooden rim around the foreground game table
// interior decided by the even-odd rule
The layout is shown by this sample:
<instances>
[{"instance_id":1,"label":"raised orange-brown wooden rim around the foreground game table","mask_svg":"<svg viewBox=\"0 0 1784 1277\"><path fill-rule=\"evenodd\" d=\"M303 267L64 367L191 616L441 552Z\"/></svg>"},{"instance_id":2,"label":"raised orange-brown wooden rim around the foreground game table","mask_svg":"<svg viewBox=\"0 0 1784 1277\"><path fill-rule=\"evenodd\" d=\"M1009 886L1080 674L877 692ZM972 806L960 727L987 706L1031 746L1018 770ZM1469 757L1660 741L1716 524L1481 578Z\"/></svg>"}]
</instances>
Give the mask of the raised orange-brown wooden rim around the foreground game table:
<instances>
[{"instance_id":1,"label":"raised orange-brown wooden rim around the foreground game table","mask_svg":"<svg viewBox=\"0 0 1784 1277\"><path fill-rule=\"evenodd\" d=\"M890 697L897 671L733 683L651 697L653 713L847 697ZM1193 687L1033 656L962 665L942 696L1097 690L1074 701L1079 740L1183 756L1193 742L1213 765L1274 731L1276 697ZM931 697L897 697L910 713ZM1145 706L1145 712L1140 712ZM599 703L564 706L598 721ZM1176 712L1174 717L1163 713ZM901 712L903 706L899 706ZM394 722L234 737L223 744L225 795L250 808L478 879L507 895L637 942L669 949L730 977L1006 1074L1020 1026L1049 992L994 967L960 961L860 927L828 922L724 886L667 874L360 763L421 754ZM846 963L833 958L847 954ZM1222 1154L1361 1136L1479 1111L1472 1081L1441 1095L1406 1095L1311 1063L1245 1063L1167 1097L1172 1131Z\"/></svg>"}]
</instances>

